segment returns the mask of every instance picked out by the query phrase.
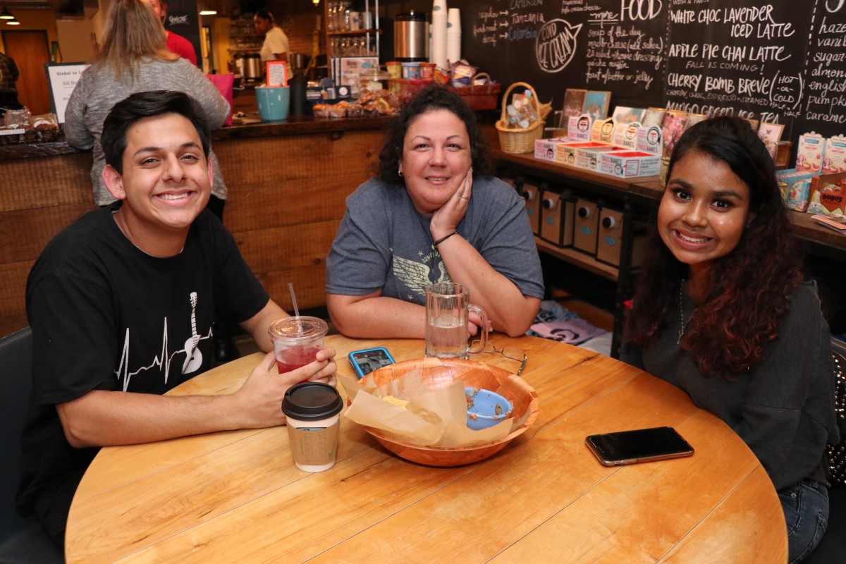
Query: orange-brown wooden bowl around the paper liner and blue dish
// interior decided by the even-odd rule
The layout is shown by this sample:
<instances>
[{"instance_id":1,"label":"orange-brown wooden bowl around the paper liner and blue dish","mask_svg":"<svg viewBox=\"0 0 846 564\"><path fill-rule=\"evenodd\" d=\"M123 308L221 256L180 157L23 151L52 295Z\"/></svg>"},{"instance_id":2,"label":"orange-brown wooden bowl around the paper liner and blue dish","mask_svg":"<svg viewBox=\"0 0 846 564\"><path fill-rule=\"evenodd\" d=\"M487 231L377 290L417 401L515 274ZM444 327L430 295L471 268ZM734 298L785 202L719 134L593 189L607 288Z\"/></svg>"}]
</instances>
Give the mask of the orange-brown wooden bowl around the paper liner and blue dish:
<instances>
[{"instance_id":1,"label":"orange-brown wooden bowl around the paper liner and blue dish","mask_svg":"<svg viewBox=\"0 0 846 564\"><path fill-rule=\"evenodd\" d=\"M509 376L514 376L508 370L503 370L497 366L462 359L406 360L375 370L371 375L376 386L384 386L388 382L400 378L410 370L419 369L423 375L423 381L426 387L432 392L452 386L455 381L464 381L464 386L497 390L499 386L503 386L508 381ZM361 425L361 428L372 435L376 441L379 441L390 452L414 463L427 464L429 466L461 466L477 463L502 450L504 446L514 440L514 437L523 434L525 430L529 429L531 424L537 419L540 408L537 392L526 384L522 378L519 376L512 378L500 393L511 402L514 409L514 419L521 419L526 413L529 413L529 415L523 424L498 441L452 448L420 446L397 441L387 435L382 435L380 430L366 425Z\"/></svg>"}]
</instances>

